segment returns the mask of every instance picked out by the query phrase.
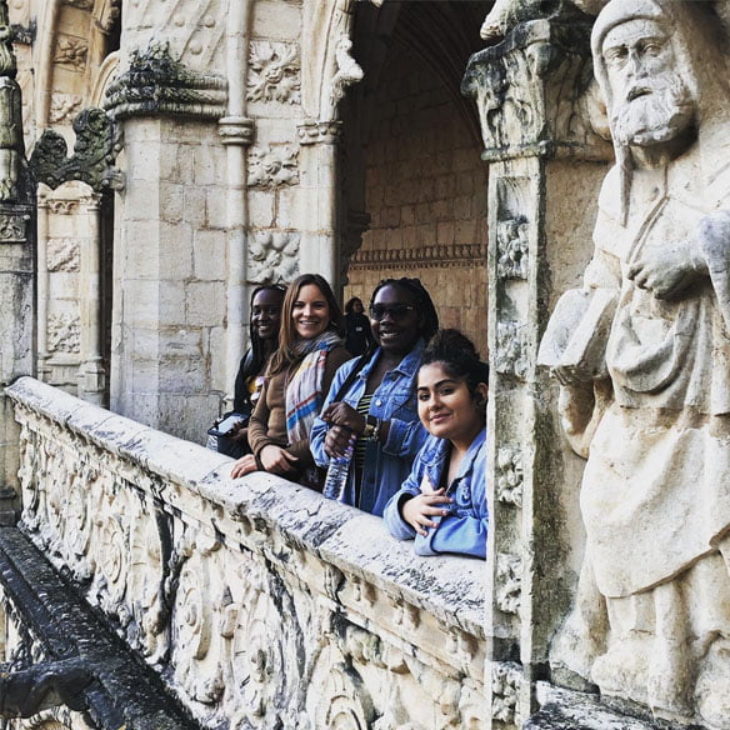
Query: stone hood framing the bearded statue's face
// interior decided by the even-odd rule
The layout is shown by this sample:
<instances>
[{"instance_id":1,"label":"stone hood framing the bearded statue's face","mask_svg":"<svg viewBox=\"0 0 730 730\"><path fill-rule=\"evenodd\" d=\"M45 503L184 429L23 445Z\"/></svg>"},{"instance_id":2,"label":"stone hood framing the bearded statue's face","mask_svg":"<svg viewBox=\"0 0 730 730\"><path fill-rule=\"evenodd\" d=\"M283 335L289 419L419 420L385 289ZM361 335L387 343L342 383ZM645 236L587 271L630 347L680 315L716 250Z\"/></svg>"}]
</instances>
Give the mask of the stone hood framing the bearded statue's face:
<instances>
[{"instance_id":1,"label":"stone hood framing the bearded statue's face","mask_svg":"<svg viewBox=\"0 0 730 730\"><path fill-rule=\"evenodd\" d=\"M603 42L608 33L632 20L650 20L671 37L677 73L697 104L698 123L720 112L728 115L728 39L725 27L713 12L710 0L610 0L593 26L591 50L594 73L609 112L616 162L622 188L622 207L628 205L631 185L631 155L619 144L613 129L613 92L603 58Z\"/></svg>"}]
</instances>

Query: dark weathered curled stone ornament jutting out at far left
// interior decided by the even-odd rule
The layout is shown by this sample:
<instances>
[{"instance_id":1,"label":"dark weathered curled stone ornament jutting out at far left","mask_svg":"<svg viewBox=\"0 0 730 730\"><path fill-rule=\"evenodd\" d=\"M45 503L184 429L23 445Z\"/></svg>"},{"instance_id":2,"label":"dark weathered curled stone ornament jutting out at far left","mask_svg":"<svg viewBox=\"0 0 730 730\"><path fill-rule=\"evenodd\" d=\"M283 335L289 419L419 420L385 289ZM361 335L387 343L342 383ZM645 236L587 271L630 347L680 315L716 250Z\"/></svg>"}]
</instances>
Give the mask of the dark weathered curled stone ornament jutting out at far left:
<instances>
[{"instance_id":1,"label":"dark weathered curled stone ornament jutting out at far left","mask_svg":"<svg viewBox=\"0 0 730 730\"><path fill-rule=\"evenodd\" d=\"M76 143L71 157L58 132L46 130L38 140L29 163L36 181L50 188L80 180L97 192L120 189L123 177L114 160L121 149L121 128L103 110L86 109L74 120L73 129Z\"/></svg>"}]
</instances>

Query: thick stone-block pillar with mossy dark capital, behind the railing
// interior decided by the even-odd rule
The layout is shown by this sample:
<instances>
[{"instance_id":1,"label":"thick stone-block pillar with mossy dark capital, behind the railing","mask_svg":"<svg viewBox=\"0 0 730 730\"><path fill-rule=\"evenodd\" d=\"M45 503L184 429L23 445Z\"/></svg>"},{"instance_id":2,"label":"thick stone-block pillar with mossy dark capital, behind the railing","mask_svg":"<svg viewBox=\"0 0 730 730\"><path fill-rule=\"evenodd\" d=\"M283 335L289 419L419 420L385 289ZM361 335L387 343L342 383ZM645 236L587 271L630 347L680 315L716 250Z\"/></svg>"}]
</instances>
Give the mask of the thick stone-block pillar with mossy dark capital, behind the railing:
<instances>
[{"instance_id":1,"label":"thick stone-block pillar with mossy dark capital, behind the railing","mask_svg":"<svg viewBox=\"0 0 730 730\"><path fill-rule=\"evenodd\" d=\"M199 442L225 387L213 383L212 353L225 349L229 200L217 122L226 100L222 77L154 45L132 54L107 100L126 158L111 407Z\"/></svg>"}]
</instances>

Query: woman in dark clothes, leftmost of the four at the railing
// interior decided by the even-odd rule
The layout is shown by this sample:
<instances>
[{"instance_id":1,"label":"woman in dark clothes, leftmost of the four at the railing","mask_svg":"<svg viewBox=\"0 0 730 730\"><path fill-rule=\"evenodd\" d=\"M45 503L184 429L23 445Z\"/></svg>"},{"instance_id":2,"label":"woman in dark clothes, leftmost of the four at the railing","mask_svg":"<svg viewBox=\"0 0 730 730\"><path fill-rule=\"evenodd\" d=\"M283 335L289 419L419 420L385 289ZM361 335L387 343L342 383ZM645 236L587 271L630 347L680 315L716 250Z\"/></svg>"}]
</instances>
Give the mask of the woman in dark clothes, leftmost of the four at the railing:
<instances>
[{"instance_id":1,"label":"woman in dark clothes, leftmost of the four at the railing","mask_svg":"<svg viewBox=\"0 0 730 730\"><path fill-rule=\"evenodd\" d=\"M223 434L216 439L218 451L235 459L251 453L248 423L261 393L269 358L279 344L281 306L285 293L286 287L281 284L263 284L257 286L251 294L251 344L241 359L236 375L233 410L216 421L211 429L211 433Z\"/></svg>"}]
</instances>

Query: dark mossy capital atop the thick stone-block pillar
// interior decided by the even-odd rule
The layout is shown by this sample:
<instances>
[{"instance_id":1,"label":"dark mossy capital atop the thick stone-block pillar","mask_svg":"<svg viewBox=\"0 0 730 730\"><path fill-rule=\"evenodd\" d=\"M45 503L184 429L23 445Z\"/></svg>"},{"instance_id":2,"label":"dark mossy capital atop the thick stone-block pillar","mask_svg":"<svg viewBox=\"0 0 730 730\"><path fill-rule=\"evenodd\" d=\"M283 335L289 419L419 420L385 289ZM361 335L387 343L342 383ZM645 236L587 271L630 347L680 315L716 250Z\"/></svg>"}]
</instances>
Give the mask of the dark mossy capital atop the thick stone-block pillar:
<instances>
[{"instance_id":1,"label":"dark mossy capital atop the thick stone-block pillar","mask_svg":"<svg viewBox=\"0 0 730 730\"><path fill-rule=\"evenodd\" d=\"M226 113L228 83L191 71L174 59L168 43L133 51L129 69L107 89L106 109L115 119L172 115L220 119Z\"/></svg>"}]
</instances>

